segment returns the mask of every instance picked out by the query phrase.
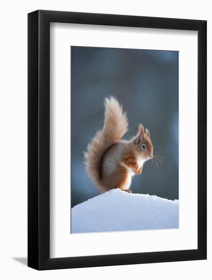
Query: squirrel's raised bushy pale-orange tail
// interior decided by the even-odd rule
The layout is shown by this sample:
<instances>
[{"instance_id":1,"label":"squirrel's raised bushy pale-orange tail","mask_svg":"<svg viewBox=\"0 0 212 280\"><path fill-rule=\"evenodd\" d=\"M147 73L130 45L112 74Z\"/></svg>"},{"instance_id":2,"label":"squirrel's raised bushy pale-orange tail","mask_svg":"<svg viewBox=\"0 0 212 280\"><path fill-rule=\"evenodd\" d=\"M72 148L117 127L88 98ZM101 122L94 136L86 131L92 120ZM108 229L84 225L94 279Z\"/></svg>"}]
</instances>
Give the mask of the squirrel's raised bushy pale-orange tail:
<instances>
[{"instance_id":1,"label":"squirrel's raised bushy pale-orange tail","mask_svg":"<svg viewBox=\"0 0 212 280\"><path fill-rule=\"evenodd\" d=\"M122 106L114 97L105 98L105 121L102 130L87 146L84 154L86 171L101 190L101 160L104 153L128 130L128 120Z\"/></svg>"}]
</instances>

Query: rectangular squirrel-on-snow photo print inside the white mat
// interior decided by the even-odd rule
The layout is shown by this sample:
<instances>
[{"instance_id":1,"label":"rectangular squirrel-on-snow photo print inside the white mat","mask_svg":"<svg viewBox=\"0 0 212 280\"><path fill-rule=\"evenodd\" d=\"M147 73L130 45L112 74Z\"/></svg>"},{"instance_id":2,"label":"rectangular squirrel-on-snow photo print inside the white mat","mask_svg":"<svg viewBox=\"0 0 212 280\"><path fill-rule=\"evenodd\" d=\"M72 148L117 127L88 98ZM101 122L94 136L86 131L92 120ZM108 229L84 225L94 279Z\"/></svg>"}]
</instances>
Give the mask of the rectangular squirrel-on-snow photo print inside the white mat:
<instances>
[{"instance_id":1,"label":"rectangular squirrel-on-snow photo print inside the white mat","mask_svg":"<svg viewBox=\"0 0 212 280\"><path fill-rule=\"evenodd\" d=\"M71 234L178 228L178 51L71 46Z\"/></svg>"}]
</instances>

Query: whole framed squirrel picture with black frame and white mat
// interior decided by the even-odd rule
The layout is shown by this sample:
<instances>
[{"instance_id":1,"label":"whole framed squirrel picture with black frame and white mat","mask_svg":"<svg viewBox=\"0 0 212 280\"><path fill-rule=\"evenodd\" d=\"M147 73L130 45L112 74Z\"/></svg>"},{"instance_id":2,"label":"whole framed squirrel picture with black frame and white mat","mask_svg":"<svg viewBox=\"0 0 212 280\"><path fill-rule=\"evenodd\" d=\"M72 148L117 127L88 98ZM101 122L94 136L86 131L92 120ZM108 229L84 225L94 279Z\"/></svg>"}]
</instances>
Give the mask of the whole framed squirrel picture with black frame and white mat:
<instances>
[{"instance_id":1,"label":"whole framed squirrel picture with black frame and white mat","mask_svg":"<svg viewBox=\"0 0 212 280\"><path fill-rule=\"evenodd\" d=\"M28 266L206 259L206 21L28 14Z\"/></svg>"}]
</instances>

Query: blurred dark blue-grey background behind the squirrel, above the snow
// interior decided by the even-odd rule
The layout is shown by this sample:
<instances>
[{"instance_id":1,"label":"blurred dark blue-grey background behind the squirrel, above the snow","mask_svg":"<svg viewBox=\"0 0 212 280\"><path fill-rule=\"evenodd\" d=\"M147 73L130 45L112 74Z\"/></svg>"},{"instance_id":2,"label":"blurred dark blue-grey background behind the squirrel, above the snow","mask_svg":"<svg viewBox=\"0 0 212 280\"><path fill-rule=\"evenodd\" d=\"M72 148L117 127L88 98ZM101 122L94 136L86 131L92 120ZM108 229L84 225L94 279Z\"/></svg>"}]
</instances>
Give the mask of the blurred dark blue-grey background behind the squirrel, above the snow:
<instances>
[{"instance_id":1,"label":"blurred dark blue-grey background behind the squirrel, above the snow","mask_svg":"<svg viewBox=\"0 0 212 280\"><path fill-rule=\"evenodd\" d=\"M150 131L154 152L134 176L134 193L178 199L178 52L71 47L71 207L99 192L85 172L83 152L104 123L104 98L112 95L128 113L129 139L139 123Z\"/></svg>"}]
</instances>

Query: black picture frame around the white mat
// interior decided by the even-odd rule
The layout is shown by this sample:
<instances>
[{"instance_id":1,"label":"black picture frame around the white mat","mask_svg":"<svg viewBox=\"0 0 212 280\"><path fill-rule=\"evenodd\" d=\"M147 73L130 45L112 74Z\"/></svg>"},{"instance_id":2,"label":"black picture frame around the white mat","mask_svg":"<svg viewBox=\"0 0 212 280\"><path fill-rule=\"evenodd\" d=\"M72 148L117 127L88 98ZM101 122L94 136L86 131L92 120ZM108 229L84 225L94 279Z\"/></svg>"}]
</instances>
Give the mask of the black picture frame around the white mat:
<instances>
[{"instance_id":1,"label":"black picture frame around the white mat","mask_svg":"<svg viewBox=\"0 0 212 280\"><path fill-rule=\"evenodd\" d=\"M198 248L50 258L50 22L198 31ZM206 259L206 21L38 10L28 14L28 266L63 269Z\"/></svg>"}]
</instances>

